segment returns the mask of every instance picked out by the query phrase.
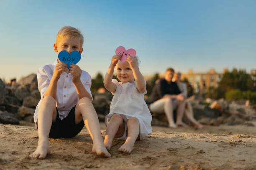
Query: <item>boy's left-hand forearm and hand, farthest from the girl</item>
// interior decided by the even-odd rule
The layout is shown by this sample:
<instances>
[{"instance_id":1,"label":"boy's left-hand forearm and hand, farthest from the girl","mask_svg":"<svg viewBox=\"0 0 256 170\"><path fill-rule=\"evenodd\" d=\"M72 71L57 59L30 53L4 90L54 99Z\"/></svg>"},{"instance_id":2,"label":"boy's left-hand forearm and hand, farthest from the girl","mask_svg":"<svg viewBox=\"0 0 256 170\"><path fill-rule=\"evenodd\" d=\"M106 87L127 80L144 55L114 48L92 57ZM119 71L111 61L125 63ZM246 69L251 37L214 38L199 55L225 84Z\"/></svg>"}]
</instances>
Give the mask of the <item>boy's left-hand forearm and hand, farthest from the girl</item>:
<instances>
[{"instance_id":1,"label":"boy's left-hand forearm and hand, farthest from the girl","mask_svg":"<svg viewBox=\"0 0 256 170\"><path fill-rule=\"evenodd\" d=\"M51 81L47 90L44 92L44 97L51 96L51 97L54 97L55 100L57 100L56 92L57 92L58 80L62 71L64 71L66 68L67 68L67 63L64 63L64 62L59 62L55 65L54 73L51 77Z\"/></svg>"}]
</instances>

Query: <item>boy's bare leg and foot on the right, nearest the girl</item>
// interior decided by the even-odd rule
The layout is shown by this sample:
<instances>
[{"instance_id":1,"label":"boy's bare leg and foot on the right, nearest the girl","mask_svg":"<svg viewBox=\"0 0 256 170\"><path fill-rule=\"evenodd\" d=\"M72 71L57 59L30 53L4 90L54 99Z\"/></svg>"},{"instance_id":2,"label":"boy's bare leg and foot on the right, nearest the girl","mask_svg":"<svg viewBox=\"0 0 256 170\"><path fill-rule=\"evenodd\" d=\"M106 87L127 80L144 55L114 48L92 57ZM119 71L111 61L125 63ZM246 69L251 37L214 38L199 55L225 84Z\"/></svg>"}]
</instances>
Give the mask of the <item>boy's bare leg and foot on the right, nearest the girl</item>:
<instances>
[{"instance_id":1,"label":"boy's bare leg and foot on the right, nearest the girl","mask_svg":"<svg viewBox=\"0 0 256 170\"><path fill-rule=\"evenodd\" d=\"M92 105L91 100L87 97L83 97L77 102L77 106L75 109L75 120L76 123L84 120L84 125L89 131L92 138L92 152L95 152L97 155L110 157L110 153L108 153L108 150L103 144L97 113Z\"/></svg>"}]
</instances>

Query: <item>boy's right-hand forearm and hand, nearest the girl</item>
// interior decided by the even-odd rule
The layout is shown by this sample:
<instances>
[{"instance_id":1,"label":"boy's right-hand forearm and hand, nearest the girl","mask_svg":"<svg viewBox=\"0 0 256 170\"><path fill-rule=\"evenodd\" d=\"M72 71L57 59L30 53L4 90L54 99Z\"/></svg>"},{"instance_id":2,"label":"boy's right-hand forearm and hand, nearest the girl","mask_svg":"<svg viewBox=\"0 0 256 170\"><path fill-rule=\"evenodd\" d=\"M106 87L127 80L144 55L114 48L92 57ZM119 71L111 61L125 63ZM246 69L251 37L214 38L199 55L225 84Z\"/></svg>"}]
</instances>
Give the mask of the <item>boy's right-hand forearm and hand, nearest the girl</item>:
<instances>
[{"instance_id":1,"label":"boy's right-hand forearm and hand, nearest the girl","mask_svg":"<svg viewBox=\"0 0 256 170\"><path fill-rule=\"evenodd\" d=\"M82 74L82 70L78 65L72 64L70 65L70 72L73 75L72 82L74 83L74 86L77 90L77 95L79 99L82 99L83 97L87 97L90 100L92 100L92 97L90 93L85 89L80 77Z\"/></svg>"}]
</instances>

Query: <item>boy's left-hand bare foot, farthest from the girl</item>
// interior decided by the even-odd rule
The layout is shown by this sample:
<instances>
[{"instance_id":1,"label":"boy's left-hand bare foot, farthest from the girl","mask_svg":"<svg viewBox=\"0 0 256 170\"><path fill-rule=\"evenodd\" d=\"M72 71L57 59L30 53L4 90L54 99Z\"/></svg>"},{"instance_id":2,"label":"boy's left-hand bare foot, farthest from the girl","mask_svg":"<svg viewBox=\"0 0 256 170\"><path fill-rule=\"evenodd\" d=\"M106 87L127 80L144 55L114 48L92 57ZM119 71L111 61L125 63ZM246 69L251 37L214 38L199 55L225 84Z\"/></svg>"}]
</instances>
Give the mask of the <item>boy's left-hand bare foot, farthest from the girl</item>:
<instances>
[{"instance_id":1,"label":"boy's left-hand bare foot, farthest from the girl","mask_svg":"<svg viewBox=\"0 0 256 170\"><path fill-rule=\"evenodd\" d=\"M31 155L29 155L32 158L39 158L39 159L44 159L47 154L50 153L50 148L49 148L49 141L43 140L43 141L38 141L38 146Z\"/></svg>"}]
</instances>

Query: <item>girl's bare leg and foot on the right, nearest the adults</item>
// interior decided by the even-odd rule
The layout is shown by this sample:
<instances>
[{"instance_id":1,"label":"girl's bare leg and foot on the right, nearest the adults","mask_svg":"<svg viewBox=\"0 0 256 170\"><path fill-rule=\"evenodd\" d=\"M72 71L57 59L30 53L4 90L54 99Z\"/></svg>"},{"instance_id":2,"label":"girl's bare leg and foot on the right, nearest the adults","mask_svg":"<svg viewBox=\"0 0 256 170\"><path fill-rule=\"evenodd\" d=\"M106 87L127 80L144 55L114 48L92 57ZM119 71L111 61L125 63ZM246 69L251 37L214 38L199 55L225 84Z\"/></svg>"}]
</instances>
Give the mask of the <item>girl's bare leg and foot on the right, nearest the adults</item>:
<instances>
[{"instance_id":1,"label":"girl's bare leg and foot on the right, nearest the adults","mask_svg":"<svg viewBox=\"0 0 256 170\"><path fill-rule=\"evenodd\" d=\"M136 117L131 117L127 121L128 137L125 143L118 149L120 152L131 153L134 143L140 133L140 124Z\"/></svg>"}]
</instances>

